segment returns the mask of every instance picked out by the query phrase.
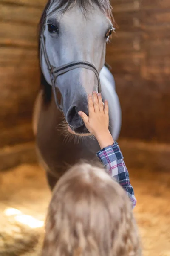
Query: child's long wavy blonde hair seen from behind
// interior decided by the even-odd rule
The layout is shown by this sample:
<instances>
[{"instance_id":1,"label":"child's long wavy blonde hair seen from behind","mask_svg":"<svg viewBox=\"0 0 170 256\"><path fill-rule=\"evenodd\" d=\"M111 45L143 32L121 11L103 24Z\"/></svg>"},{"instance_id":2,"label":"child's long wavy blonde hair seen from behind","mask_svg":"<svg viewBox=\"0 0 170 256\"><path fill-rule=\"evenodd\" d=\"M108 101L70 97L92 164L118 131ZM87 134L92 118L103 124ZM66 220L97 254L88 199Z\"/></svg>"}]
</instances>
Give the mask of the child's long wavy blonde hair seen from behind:
<instances>
[{"instance_id":1,"label":"child's long wavy blonde hair seen from behind","mask_svg":"<svg viewBox=\"0 0 170 256\"><path fill-rule=\"evenodd\" d=\"M99 167L73 166L54 188L42 256L139 256L130 200Z\"/></svg>"}]
</instances>

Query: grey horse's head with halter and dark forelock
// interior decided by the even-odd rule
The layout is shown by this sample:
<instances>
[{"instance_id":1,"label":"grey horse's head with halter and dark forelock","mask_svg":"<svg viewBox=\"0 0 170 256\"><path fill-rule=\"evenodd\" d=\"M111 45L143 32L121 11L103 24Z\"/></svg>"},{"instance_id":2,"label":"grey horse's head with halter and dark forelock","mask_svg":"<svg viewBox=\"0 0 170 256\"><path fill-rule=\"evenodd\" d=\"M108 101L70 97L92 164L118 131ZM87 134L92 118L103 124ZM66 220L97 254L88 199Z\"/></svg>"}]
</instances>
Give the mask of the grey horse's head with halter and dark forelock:
<instances>
[{"instance_id":1,"label":"grey horse's head with halter and dark forelock","mask_svg":"<svg viewBox=\"0 0 170 256\"><path fill-rule=\"evenodd\" d=\"M88 134L78 111L88 114L88 94L100 89L99 72L105 64L106 42L112 30L108 0L51 0L43 12L40 21L42 75L50 90L53 86L58 108L77 134ZM70 64L77 66L68 68Z\"/></svg>"}]
</instances>

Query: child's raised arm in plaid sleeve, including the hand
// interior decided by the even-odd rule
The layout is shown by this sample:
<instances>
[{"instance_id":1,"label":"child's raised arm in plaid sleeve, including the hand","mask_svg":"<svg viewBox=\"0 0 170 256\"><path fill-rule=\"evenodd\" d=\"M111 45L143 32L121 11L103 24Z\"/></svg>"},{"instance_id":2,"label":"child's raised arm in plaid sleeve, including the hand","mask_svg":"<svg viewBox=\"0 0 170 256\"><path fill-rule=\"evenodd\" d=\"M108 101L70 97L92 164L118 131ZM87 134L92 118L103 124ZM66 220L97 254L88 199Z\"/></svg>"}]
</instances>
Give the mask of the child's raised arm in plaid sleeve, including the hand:
<instances>
[{"instance_id":1,"label":"child's raised arm in plaid sleeve, including the hand","mask_svg":"<svg viewBox=\"0 0 170 256\"><path fill-rule=\"evenodd\" d=\"M114 142L108 129L108 102L105 101L104 107L101 94L94 92L93 99L91 95L88 96L88 109L89 117L81 111L79 115L82 117L89 132L94 134L99 142L101 150L97 152L97 157L106 167L108 174L125 189L134 208L136 198L134 196L133 187L130 184L129 173L125 166L119 145Z\"/></svg>"}]
</instances>

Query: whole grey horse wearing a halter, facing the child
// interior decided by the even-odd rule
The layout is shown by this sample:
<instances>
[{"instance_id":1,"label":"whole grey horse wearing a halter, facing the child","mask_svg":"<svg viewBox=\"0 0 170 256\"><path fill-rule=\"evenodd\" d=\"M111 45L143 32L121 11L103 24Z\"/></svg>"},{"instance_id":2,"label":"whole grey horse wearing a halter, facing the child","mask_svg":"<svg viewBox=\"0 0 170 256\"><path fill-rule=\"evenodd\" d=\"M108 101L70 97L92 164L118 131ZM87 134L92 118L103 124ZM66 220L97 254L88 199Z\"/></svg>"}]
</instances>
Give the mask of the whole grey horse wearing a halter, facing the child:
<instances>
[{"instance_id":1,"label":"whole grey horse wearing a halter, facing the child","mask_svg":"<svg viewBox=\"0 0 170 256\"><path fill-rule=\"evenodd\" d=\"M94 161L99 143L78 111L88 114L88 94L108 100L109 129L119 137L121 109L105 64L114 31L109 0L48 0L39 26L41 88L34 104L36 151L51 190L80 159ZM74 134L69 131L74 131Z\"/></svg>"}]
</instances>

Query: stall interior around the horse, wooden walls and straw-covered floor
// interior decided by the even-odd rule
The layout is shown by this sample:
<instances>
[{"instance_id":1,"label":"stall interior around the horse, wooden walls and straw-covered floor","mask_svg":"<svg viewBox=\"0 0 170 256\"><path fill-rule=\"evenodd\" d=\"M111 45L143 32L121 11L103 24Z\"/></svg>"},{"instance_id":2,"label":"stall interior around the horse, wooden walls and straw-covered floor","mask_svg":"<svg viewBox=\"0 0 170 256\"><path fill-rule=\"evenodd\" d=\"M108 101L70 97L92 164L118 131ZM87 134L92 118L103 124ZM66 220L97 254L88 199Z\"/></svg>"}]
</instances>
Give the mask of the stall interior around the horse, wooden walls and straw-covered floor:
<instances>
[{"instance_id":1,"label":"stall interior around the horse, wooden walls and straw-covered floor","mask_svg":"<svg viewBox=\"0 0 170 256\"><path fill-rule=\"evenodd\" d=\"M51 198L37 163L37 24L46 0L0 1L0 255L40 253ZM170 256L170 1L111 0L107 46L122 109L119 145L144 256Z\"/></svg>"}]
</instances>

